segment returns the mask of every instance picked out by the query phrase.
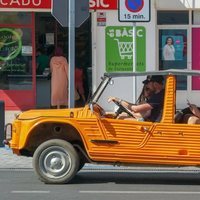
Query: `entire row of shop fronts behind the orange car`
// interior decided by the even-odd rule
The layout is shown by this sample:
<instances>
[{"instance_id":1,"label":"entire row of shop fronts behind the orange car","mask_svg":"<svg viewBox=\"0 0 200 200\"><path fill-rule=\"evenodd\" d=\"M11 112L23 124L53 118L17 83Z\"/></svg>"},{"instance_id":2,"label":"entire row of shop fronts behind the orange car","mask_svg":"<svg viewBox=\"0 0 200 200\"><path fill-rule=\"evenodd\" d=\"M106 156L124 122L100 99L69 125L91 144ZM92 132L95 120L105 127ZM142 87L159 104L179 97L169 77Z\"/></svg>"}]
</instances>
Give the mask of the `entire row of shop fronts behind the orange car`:
<instances>
[{"instance_id":1,"label":"entire row of shop fronts behind the orange car","mask_svg":"<svg viewBox=\"0 0 200 200\"><path fill-rule=\"evenodd\" d=\"M117 2L89 0L91 18L76 32L77 55L86 66L85 74L92 69L93 91L104 72L200 69L199 1L151 0L150 21L136 23L118 20ZM0 99L6 110L50 106L50 82L36 73L36 50L44 47L51 54L51 47L59 45L67 56L68 45L67 29L50 10L50 0L0 1ZM164 46L169 38L174 55L167 58ZM121 80L120 93L112 91L113 95L134 101L143 78ZM186 106L188 96L198 104L199 81L178 79L178 107ZM87 93L90 87L86 86Z\"/></svg>"}]
</instances>

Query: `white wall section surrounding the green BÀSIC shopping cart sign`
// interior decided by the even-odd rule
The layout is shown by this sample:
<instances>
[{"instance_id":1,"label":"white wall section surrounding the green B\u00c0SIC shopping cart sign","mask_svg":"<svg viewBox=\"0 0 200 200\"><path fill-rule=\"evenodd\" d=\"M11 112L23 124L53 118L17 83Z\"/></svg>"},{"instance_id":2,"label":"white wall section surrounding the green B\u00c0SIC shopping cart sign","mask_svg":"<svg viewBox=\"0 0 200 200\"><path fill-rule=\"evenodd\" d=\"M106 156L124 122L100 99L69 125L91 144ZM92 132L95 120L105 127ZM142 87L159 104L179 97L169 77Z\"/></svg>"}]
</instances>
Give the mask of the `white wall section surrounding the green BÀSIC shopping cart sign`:
<instances>
[{"instance_id":1,"label":"white wall section surrounding the green B\u00c0SIC shopping cart sign","mask_svg":"<svg viewBox=\"0 0 200 200\"><path fill-rule=\"evenodd\" d=\"M146 68L147 71L156 70L156 12L154 0L151 1L151 22L136 23L136 26L144 26L146 28ZM101 12L101 11L98 11ZM109 10L106 12L106 26L132 26L133 23L125 23L118 21L118 11ZM106 26L97 26L97 13L92 13L92 34L93 34L93 91L97 88L100 77L105 72L105 28ZM112 51L112 49L110 49ZM142 80L145 77L129 78L127 80L117 81L117 90L112 90L112 95L134 102L141 92ZM135 83L136 82L136 83ZM135 89L136 88L136 89ZM104 94L104 100L110 96L111 92ZM111 105L100 102L106 110L110 110Z\"/></svg>"}]
</instances>

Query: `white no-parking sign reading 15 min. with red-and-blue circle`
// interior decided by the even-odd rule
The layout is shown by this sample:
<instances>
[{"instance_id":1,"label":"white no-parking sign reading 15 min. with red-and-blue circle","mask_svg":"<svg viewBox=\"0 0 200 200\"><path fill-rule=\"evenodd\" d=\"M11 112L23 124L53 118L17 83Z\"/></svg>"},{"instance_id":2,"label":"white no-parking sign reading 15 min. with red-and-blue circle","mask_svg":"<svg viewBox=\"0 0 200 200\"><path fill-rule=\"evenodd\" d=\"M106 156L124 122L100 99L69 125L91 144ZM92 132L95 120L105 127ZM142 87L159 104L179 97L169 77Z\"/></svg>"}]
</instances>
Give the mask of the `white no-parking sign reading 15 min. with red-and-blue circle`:
<instances>
[{"instance_id":1,"label":"white no-parking sign reading 15 min. with red-and-blue circle","mask_svg":"<svg viewBox=\"0 0 200 200\"><path fill-rule=\"evenodd\" d=\"M120 22L149 22L150 0L119 0Z\"/></svg>"}]
</instances>

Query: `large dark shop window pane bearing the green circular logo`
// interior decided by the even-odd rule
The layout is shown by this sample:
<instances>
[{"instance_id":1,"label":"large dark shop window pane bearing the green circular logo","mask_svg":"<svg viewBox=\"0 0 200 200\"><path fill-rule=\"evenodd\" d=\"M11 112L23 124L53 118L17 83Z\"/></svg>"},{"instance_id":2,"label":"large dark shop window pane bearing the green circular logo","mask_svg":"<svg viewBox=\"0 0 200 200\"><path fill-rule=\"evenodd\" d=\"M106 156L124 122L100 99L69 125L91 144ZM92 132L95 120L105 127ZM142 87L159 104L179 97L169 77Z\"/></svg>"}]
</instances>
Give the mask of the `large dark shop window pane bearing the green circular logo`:
<instances>
[{"instance_id":1,"label":"large dark shop window pane bearing the green circular logo","mask_svg":"<svg viewBox=\"0 0 200 200\"><path fill-rule=\"evenodd\" d=\"M0 89L32 89L32 42L29 28L0 28Z\"/></svg>"}]
</instances>

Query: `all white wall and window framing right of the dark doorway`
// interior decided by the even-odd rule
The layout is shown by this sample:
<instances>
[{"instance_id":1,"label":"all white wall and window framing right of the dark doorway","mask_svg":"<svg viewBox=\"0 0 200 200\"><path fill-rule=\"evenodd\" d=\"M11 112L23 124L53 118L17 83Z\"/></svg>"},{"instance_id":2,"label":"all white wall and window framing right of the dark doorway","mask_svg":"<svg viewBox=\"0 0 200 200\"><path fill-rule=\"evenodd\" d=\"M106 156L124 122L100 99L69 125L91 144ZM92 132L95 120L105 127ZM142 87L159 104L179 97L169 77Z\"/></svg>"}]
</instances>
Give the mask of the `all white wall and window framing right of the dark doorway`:
<instances>
[{"instance_id":1,"label":"all white wall and window framing right of the dark doorway","mask_svg":"<svg viewBox=\"0 0 200 200\"><path fill-rule=\"evenodd\" d=\"M146 70L158 70L158 28L157 28L157 10L190 10L200 9L200 0L151 0L151 21L147 23L136 23L137 26L146 28ZM107 26L126 26L132 23L123 23L118 21L118 11L106 12ZM191 67L191 28L188 27L188 68ZM197 26L196 26L197 27ZM198 26L200 27L200 26ZM105 72L105 27L96 26L96 13L93 13L93 86L94 90L100 82L100 77ZM118 89L112 91L115 96L134 102L139 96L142 88L142 80L145 77L137 77L128 81L117 82ZM111 92L105 94L105 99ZM177 108L187 106L186 99L192 103L200 105L199 91L191 91L191 78L188 78L188 90L177 92ZM110 105L103 103L106 109L110 110Z\"/></svg>"}]
</instances>

